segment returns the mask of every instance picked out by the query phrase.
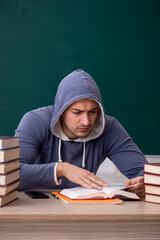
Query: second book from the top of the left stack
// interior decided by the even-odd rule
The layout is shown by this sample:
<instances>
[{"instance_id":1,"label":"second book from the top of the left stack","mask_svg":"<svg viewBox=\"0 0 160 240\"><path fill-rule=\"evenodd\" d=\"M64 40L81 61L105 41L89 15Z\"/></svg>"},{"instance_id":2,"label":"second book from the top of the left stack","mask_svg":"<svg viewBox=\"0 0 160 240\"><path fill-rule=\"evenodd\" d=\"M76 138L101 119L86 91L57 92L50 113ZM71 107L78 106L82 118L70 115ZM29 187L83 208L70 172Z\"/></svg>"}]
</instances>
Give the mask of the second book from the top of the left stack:
<instances>
[{"instance_id":1,"label":"second book from the top of the left stack","mask_svg":"<svg viewBox=\"0 0 160 240\"><path fill-rule=\"evenodd\" d=\"M0 150L0 162L7 162L10 160L18 159L20 155L20 148L8 148Z\"/></svg>"}]
</instances>

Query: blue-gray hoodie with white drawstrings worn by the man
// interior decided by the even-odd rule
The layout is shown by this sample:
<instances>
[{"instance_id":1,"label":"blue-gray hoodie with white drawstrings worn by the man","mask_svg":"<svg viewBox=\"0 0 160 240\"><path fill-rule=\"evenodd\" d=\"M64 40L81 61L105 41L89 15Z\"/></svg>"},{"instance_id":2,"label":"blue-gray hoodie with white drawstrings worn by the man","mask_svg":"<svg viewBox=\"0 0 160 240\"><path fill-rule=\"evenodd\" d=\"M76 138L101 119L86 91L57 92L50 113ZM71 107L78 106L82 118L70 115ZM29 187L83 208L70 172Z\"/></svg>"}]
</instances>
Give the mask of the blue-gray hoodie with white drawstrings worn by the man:
<instances>
[{"instance_id":1,"label":"blue-gray hoodie with white drawstrings worn by the man","mask_svg":"<svg viewBox=\"0 0 160 240\"><path fill-rule=\"evenodd\" d=\"M77 100L89 98L100 106L92 132L70 140L62 131L60 116ZM65 177L57 179L58 162L83 167L96 174L106 157L128 178L143 175L146 159L121 124L105 115L99 89L92 77L79 69L59 84L54 105L30 111L15 136L20 137L21 183L19 189L77 186Z\"/></svg>"}]
</instances>

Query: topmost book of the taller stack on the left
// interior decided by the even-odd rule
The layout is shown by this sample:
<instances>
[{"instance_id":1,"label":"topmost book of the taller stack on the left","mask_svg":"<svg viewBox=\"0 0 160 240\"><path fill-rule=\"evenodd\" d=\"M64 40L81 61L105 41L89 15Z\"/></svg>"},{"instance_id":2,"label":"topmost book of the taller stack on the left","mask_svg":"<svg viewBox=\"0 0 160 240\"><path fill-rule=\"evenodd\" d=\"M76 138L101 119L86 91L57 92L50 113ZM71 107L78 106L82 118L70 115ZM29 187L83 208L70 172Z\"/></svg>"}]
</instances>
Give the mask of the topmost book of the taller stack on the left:
<instances>
[{"instance_id":1,"label":"topmost book of the taller stack on the left","mask_svg":"<svg viewBox=\"0 0 160 240\"><path fill-rule=\"evenodd\" d=\"M14 148L19 146L19 137L0 136L0 149Z\"/></svg>"}]
</instances>

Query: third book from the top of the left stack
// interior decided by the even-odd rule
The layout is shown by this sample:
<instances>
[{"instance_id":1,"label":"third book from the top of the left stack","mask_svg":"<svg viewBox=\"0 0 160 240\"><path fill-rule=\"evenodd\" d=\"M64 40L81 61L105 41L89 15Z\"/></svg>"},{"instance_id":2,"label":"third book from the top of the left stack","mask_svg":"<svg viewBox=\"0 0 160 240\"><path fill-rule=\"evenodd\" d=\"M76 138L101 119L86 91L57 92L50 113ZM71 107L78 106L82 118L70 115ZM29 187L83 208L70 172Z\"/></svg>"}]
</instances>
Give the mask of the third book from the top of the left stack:
<instances>
[{"instance_id":1,"label":"third book from the top of the left stack","mask_svg":"<svg viewBox=\"0 0 160 240\"><path fill-rule=\"evenodd\" d=\"M5 174L19 168L20 159L0 163L0 174Z\"/></svg>"}]
</instances>

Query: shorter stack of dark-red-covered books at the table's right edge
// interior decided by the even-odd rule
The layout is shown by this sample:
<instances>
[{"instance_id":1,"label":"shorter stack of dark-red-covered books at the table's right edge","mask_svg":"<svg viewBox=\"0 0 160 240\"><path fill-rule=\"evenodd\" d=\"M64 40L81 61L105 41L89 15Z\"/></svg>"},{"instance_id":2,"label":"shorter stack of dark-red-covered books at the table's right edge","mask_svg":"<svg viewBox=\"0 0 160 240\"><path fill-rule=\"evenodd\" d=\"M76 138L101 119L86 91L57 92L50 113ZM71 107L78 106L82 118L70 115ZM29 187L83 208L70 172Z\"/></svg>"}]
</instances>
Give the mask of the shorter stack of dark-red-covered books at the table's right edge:
<instances>
[{"instance_id":1,"label":"shorter stack of dark-red-covered books at the table's right edge","mask_svg":"<svg viewBox=\"0 0 160 240\"><path fill-rule=\"evenodd\" d=\"M160 163L144 165L145 201L160 203Z\"/></svg>"}]
</instances>

